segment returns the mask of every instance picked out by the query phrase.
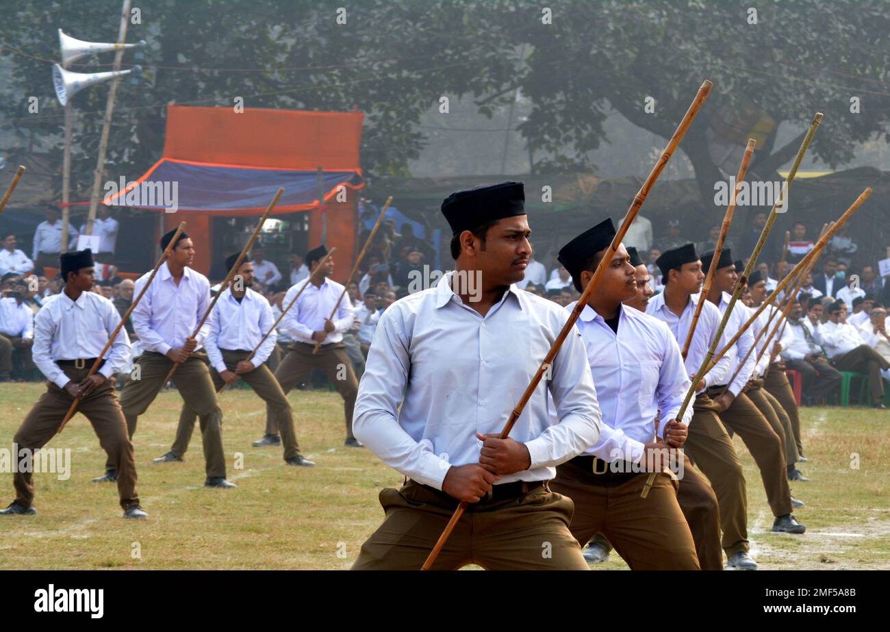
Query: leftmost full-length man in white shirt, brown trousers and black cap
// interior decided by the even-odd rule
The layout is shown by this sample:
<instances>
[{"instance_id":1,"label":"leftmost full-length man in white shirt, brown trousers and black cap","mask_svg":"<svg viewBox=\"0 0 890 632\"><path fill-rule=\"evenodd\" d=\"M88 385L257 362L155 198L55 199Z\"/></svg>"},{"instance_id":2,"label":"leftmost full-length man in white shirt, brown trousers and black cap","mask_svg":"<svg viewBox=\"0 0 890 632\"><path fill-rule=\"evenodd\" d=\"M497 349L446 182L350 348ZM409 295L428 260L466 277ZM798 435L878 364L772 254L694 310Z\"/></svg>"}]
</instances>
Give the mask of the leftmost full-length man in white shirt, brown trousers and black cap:
<instances>
[{"instance_id":1,"label":"leftmost full-length man in white shirt, brown trousers and black cap","mask_svg":"<svg viewBox=\"0 0 890 632\"><path fill-rule=\"evenodd\" d=\"M125 518L147 518L136 494L133 443L117 403L114 373L129 359L130 343L121 329L103 356L99 370L88 375L109 337L120 323L111 302L90 291L95 275L89 248L61 255L65 288L44 306L35 321L34 361L46 376L46 393L28 412L12 439L17 454L34 454L56 435L71 404L93 425L102 448L117 471L117 492ZM34 515L31 471L12 477L16 498L2 515Z\"/></svg>"}]
</instances>

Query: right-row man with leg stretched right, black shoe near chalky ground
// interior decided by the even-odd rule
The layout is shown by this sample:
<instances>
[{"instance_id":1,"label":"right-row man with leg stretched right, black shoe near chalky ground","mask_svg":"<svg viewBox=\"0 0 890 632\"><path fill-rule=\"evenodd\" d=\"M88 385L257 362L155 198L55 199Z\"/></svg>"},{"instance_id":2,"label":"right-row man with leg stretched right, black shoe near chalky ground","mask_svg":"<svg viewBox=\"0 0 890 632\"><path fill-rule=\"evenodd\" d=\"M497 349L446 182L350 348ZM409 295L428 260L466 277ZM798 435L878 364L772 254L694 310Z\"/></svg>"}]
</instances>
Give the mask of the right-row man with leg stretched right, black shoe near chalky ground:
<instances>
[{"instance_id":1,"label":"right-row man with leg stretched right, black shoe near chalky ground","mask_svg":"<svg viewBox=\"0 0 890 632\"><path fill-rule=\"evenodd\" d=\"M713 256L714 253L702 255L701 263L711 264L710 259ZM728 249L724 249L719 260L713 262L713 265L716 266L714 288L708 296L708 301L716 305L721 313L725 313L732 299L728 292L732 292L735 288L739 275L735 271L735 264L732 263L732 255ZM748 308L744 305L733 308L724 334L732 339L741 331L748 317ZM714 397L714 401L720 407L721 420L732 432L739 434L751 456L754 457L764 482L766 500L775 516L773 531L803 533L806 527L791 515L793 504L788 485L781 426L773 428L769 420L748 399L748 395L743 393L756 363L754 353L748 353L753 346L754 336L750 328L745 329L725 353L725 357L730 359L730 370L725 374L716 373L713 376L716 385L708 388L708 395ZM743 360L746 356L748 360ZM713 371L716 369L712 369Z\"/></svg>"}]
</instances>

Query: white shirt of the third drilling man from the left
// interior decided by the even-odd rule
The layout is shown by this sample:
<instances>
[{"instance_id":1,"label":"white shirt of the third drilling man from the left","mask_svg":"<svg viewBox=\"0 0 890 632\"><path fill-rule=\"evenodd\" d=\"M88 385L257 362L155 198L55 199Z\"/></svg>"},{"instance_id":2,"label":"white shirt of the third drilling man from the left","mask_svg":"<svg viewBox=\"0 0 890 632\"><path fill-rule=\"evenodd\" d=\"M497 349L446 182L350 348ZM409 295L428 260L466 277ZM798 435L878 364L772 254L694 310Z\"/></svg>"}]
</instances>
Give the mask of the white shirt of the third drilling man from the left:
<instances>
[{"instance_id":1,"label":"white shirt of the third drilling man from the left","mask_svg":"<svg viewBox=\"0 0 890 632\"><path fill-rule=\"evenodd\" d=\"M218 373L227 370L220 349L253 351L271 329L273 322L272 308L265 296L247 288L239 303L232 296L231 289L226 289L210 312L210 331L205 340L210 364ZM269 360L277 340L278 334L272 330L250 359L254 369Z\"/></svg>"}]
</instances>

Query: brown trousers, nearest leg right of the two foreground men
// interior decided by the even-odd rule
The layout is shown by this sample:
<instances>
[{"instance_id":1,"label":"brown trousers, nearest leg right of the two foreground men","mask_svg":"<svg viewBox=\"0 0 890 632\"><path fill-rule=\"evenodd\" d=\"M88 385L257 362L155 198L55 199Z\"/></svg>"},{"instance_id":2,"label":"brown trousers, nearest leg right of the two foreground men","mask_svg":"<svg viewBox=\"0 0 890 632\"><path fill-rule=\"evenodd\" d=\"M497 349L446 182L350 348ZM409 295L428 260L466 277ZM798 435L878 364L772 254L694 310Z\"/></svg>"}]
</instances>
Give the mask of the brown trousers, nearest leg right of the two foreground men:
<instances>
[{"instance_id":1,"label":"brown trousers, nearest leg right of the two foreground men","mask_svg":"<svg viewBox=\"0 0 890 632\"><path fill-rule=\"evenodd\" d=\"M745 474L732 439L717 417L719 410L707 394L695 398L684 452L711 482L720 507L723 548L729 557L748 550L748 496ZM683 488L682 482L680 487Z\"/></svg>"}]
</instances>

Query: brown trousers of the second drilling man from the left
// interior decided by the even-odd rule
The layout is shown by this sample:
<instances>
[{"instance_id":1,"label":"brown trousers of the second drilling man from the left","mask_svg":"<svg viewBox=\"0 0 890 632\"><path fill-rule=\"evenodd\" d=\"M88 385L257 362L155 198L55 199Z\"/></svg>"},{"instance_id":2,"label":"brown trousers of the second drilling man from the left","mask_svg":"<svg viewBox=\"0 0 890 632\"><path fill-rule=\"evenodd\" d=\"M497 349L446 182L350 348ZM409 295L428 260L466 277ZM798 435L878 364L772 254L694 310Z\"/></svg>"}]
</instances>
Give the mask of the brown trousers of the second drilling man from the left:
<instances>
[{"instance_id":1,"label":"brown trousers of the second drilling man from the left","mask_svg":"<svg viewBox=\"0 0 890 632\"><path fill-rule=\"evenodd\" d=\"M205 363L206 354L197 352L184 361L173 376L176 390L182 395L185 405L198 413L201 435L204 439L204 458L207 477L225 477L225 456L223 454L223 411L216 402L214 381ZM132 438L136 432L136 420L145 412L164 386L164 378L173 361L156 352L144 352L136 358L140 378L126 383L120 393L120 406L124 409L126 427ZM112 467L109 461L107 467Z\"/></svg>"}]
</instances>

